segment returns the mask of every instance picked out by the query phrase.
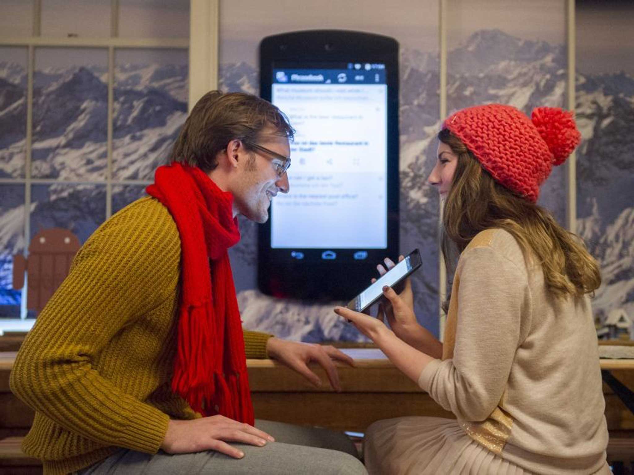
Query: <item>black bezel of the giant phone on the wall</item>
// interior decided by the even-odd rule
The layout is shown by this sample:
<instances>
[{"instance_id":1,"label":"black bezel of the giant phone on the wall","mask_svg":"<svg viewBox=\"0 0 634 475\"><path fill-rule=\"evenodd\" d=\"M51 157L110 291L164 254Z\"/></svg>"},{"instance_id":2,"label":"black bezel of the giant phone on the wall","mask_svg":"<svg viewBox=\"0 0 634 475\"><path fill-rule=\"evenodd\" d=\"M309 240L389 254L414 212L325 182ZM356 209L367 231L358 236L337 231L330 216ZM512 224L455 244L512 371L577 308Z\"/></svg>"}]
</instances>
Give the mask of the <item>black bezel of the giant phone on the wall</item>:
<instances>
[{"instance_id":1,"label":"black bezel of the giant phone on the wall","mask_svg":"<svg viewBox=\"0 0 634 475\"><path fill-rule=\"evenodd\" d=\"M285 257L271 249L271 217L259 226L259 289L280 298L347 300L365 288L384 257L399 249L399 73L398 42L383 35L347 30L310 30L266 37L260 44L260 96L271 100L275 63L383 63L387 83L387 248L370 249L365 260L353 260L354 249L337 249L338 259L323 260L323 249L301 250L305 258ZM292 124L291 124L292 125ZM291 190L292 193L292 190ZM269 209L272 214L272 208Z\"/></svg>"}]
</instances>

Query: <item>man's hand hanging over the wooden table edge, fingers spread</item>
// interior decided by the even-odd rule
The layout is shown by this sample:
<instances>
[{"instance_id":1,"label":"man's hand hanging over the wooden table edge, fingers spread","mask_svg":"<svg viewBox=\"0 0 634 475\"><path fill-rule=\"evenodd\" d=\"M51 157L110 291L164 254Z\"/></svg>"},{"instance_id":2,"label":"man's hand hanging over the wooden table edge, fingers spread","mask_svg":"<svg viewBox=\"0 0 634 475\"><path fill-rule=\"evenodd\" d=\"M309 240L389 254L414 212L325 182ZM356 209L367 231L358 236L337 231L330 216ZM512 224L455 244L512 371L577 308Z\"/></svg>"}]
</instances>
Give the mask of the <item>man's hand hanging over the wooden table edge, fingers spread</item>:
<instances>
[{"instance_id":1,"label":"man's hand hanging over the wooden table edge, fingers spread","mask_svg":"<svg viewBox=\"0 0 634 475\"><path fill-rule=\"evenodd\" d=\"M330 345L313 345L280 338L269 338L266 343L266 351L269 353L269 357L287 365L290 369L294 369L314 386L319 387L321 386L320 377L314 374L307 365L311 361L317 362L326 370L330 386L336 391L341 391L341 385L339 384L339 373L337 373L337 367L335 367L333 360L354 366L353 358Z\"/></svg>"}]
</instances>

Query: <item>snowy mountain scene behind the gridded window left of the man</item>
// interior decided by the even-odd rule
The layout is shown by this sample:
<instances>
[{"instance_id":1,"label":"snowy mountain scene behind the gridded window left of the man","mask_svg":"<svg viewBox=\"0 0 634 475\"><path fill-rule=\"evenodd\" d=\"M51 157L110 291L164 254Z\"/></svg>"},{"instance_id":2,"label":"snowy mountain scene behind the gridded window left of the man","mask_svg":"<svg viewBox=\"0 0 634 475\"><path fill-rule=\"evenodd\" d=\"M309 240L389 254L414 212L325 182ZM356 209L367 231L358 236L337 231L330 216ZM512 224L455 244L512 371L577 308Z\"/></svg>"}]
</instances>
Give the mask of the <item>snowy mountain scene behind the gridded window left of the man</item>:
<instances>
[{"instance_id":1,"label":"snowy mountain scene behind the gridded window left of the man","mask_svg":"<svg viewBox=\"0 0 634 475\"><path fill-rule=\"evenodd\" d=\"M3 179L24 177L26 74L0 61ZM187 115L187 76L186 65L115 68L113 181L151 180L165 161ZM42 228L65 227L84 242L105 220L107 105L103 67L36 70L32 177L53 182L32 184L30 238ZM20 312L22 293L12 289L12 269L13 255L28 247L24 194L23 185L0 184L0 317ZM113 212L144 194L143 185L114 184Z\"/></svg>"}]
</instances>

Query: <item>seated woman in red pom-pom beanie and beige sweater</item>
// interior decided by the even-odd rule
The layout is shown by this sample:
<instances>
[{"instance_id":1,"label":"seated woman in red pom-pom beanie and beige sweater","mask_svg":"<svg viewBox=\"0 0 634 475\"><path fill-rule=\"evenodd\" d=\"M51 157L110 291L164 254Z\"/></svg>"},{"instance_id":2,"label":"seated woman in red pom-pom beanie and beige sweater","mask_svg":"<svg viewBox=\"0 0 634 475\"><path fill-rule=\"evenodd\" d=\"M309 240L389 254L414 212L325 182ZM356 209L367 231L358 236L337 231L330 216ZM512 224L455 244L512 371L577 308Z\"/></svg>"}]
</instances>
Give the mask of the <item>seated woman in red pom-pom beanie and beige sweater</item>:
<instances>
[{"instance_id":1,"label":"seated woman in red pom-pom beanie and beige sweater","mask_svg":"<svg viewBox=\"0 0 634 475\"><path fill-rule=\"evenodd\" d=\"M351 320L456 420L401 417L366 433L371 474L609 474L597 336L597 262L536 205L579 143L570 113L485 105L451 115L429 176L455 266L443 343L413 314L411 286L383 319ZM387 267L393 263L386 260ZM382 266L380 272L385 272ZM382 312L380 312L382 316Z\"/></svg>"}]
</instances>

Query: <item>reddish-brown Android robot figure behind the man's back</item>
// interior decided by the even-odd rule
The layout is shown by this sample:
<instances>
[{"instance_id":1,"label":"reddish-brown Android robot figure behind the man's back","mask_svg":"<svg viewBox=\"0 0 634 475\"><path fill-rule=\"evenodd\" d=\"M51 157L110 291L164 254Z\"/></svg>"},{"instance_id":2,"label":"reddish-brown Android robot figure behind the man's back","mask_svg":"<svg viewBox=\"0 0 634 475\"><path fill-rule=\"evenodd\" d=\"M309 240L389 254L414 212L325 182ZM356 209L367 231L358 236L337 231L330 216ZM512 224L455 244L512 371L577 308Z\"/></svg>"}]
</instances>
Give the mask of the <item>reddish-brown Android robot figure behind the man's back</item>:
<instances>
[{"instance_id":1,"label":"reddish-brown Android robot figure behind the man's back","mask_svg":"<svg viewBox=\"0 0 634 475\"><path fill-rule=\"evenodd\" d=\"M38 232L29 244L29 257L13 256L13 288L22 289L28 273L27 310L41 312L68 275L70 263L81 247L68 229L53 227Z\"/></svg>"}]
</instances>

